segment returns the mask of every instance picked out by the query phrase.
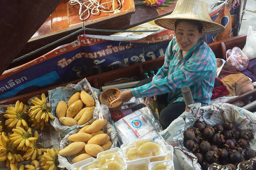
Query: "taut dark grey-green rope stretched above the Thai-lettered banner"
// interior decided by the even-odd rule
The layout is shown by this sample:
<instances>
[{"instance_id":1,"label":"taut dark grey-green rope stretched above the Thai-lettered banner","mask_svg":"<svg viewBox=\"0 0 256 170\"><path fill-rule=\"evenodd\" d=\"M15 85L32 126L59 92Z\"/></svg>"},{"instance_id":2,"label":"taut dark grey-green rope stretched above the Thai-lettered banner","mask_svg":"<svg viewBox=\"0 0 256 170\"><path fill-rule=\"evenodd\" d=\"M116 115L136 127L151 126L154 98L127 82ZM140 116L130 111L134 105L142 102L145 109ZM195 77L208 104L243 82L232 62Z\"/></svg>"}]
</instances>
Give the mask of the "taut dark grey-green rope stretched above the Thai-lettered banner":
<instances>
[{"instance_id":1,"label":"taut dark grey-green rope stretched above the Thai-lettered banner","mask_svg":"<svg viewBox=\"0 0 256 170\"><path fill-rule=\"evenodd\" d=\"M37 52L39 52L39 51L41 51L43 49L46 49L46 48L48 48L48 47L50 47L50 46L52 46L54 44L57 44L57 43L65 40L65 39L67 39L67 38L69 38L69 37L71 37L71 36L81 32L81 31L84 31L84 30L86 30L86 31L100 31L100 32L156 32L156 31L159 31L159 30L105 30L105 29L85 28L83 26L82 29L79 29L79 30L77 30L77 31L75 31L75 32L65 36L65 37L62 37L62 38L58 39L57 41L54 41L54 42L52 42L50 44L47 44L47 45L45 45L45 46L43 46L41 48L38 48L38 49L28 53L28 54L25 54L25 55L17 58L17 59L14 59L11 63L15 63L15 62L17 62L17 61L19 61L21 59L24 59L24 58L26 58L26 57L28 57L28 56L30 56L32 54L35 54L35 53L37 53Z\"/></svg>"}]
</instances>

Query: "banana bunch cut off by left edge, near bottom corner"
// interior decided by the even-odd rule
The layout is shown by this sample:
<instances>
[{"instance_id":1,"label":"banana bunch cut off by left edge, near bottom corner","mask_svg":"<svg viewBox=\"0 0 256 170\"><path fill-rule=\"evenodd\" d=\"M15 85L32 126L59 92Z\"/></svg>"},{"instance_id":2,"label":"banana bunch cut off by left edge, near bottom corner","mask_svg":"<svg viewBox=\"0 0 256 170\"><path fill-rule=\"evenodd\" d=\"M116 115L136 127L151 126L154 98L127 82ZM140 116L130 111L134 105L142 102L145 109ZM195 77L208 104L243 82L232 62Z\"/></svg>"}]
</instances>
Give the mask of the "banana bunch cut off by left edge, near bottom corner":
<instances>
[{"instance_id":1,"label":"banana bunch cut off by left edge, near bottom corner","mask_svg":"<svg viewBox=\"0 0 256 170\"><path fill-rule=\"evenodd\" d=\"M24 161L23 157L16 153L13 144L4 132L0 135L0 144L0 161L6 161L6 167L17 166L18 162Z\"/></svg>"}]
</instances>

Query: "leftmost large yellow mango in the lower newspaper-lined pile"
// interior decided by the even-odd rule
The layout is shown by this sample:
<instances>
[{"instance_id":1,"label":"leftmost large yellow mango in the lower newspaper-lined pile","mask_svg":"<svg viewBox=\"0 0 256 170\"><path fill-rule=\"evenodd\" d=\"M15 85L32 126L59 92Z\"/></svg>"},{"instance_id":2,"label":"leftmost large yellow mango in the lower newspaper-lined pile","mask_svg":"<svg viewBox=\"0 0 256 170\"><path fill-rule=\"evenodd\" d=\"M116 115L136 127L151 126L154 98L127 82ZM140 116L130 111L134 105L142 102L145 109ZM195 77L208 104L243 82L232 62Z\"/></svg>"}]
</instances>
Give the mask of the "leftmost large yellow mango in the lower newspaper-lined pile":
<instances>
[{"instance_id":1,"label":"leftmost large yellow mango in the lower newspaper-lined pile","mask_svg":"<svg viewBox=\"0 0 256 170\"><path fill-rule=\"evenodd\" d=\"M71 156L81 152L84 149L84 142L73 142L65 147L63 150L59 151L61 156Z\"/></svg>"}]
</instances>

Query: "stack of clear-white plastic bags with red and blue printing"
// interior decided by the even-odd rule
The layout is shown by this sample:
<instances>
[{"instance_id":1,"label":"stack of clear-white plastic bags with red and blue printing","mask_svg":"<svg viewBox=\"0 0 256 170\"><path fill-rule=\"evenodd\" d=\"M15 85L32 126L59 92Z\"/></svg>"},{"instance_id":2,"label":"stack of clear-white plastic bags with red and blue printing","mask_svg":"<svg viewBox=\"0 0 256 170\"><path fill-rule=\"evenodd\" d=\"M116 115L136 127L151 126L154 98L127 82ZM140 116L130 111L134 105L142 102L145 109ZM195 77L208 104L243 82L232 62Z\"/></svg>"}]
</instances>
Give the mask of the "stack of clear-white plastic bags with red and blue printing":
<instances>
[{"instance_id":1,"label":"stack of clear-white plastic bags with red and blue printing","mask_svg":"<svg viewBox=\"0 0 256 170\"><path fill-rule=\"evenodd\" d=\"M142 99L143 100L143 99ZM148 107L136 110L115 122L120 144L131 142L135 139L159 139L158 132L162 126L155 119Z\"/></svg>"}]
</instances>

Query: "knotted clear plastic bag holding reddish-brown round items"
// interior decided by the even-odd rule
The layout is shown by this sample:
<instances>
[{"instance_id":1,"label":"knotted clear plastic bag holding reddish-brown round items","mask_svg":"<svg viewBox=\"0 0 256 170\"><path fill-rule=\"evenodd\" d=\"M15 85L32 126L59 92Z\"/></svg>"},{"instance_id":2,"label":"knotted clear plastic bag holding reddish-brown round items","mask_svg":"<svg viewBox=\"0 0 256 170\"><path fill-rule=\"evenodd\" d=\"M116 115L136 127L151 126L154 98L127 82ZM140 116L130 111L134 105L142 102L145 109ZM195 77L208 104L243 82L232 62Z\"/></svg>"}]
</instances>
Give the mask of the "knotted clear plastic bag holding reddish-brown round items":
<instances>
[{"instance_id":1,"label":"knotted clear plastic bag holding reddish-brown round items","mask_svg":"<svg viewBox=\"0 0 256 170\"><path fill-rule=\"evenodd\" d=\"M232 64L236 70L242 71L249 65L249 59L239 47L234 47L226 52L227 62Z\"/></svg>"}]
</instances>

